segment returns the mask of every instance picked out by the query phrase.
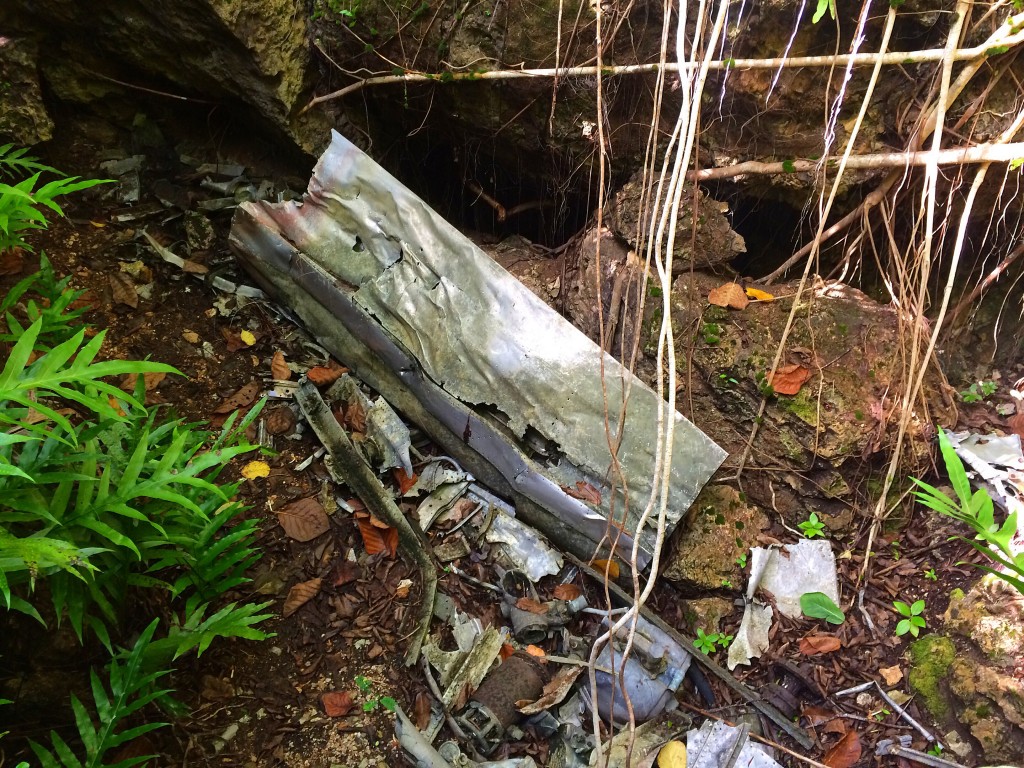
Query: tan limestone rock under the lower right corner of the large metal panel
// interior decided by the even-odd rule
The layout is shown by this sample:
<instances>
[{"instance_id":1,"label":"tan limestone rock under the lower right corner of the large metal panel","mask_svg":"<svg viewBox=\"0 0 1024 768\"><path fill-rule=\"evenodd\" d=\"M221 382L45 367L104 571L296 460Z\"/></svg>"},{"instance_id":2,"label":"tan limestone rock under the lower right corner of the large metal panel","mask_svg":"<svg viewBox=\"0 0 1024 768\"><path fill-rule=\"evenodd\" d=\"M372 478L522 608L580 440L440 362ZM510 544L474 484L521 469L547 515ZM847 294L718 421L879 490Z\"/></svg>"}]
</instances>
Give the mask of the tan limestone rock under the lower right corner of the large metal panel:
<instances>
[{"instance_id":1,"label":"tan limestone rock under the lower right corner of the large metal panel","mask_svg":"<svg viewBox=\"0 0 1024 768\"><path fill-rule=\"evenodd\" d=\"M676 528L662 575L684 591L742 588L736 558L748 552L768 519L728 485L707 485Z\"/></svg>"}]
</instances>

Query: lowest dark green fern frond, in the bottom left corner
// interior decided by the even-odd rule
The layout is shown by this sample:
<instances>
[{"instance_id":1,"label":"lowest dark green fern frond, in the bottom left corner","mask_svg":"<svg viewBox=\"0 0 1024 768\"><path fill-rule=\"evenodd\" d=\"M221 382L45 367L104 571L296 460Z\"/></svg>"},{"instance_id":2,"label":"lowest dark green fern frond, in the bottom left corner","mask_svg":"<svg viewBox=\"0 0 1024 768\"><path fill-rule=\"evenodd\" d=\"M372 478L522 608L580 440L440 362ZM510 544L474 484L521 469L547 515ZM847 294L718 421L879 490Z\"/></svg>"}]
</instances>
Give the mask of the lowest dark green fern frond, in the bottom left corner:
<instances>
[{"instance_id":1,"label":"lowest dark green fern frond, in the bottom left corner","mask_svg":"<svg viewBox=\"0 0 1024 768\"><path fill-rule=\"evenodd\" d=\"M168 671L147 671L145 665L146 651L151 647L158 624L159 621L154 620L145 628L123 664L117 658L111 660L108 678L110 693L103 687L99 675L94 670L90 672L97 722L93 722L93 717L85 706L72 694L71 703L75 712L79 738L85 751L84 760L79 759L75 751L55 731L50 731L52 751L35 741L30 742L43 768L131 768L157 757L146 755L113 764L103 761L103 757L111 750L167 725L167 723L145 723L123 729L128 718L170 692L156 686L157 681Z\"/></svg>"}]
</instances>

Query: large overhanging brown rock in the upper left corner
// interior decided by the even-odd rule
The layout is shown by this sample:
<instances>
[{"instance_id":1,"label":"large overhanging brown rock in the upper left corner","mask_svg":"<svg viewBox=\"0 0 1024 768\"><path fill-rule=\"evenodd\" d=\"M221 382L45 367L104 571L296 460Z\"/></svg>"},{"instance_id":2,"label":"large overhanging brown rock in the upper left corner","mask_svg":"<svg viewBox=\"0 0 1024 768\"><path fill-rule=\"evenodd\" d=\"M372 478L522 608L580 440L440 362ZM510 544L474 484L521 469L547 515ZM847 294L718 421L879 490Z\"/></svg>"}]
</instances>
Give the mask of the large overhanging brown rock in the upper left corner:
<instances>
[{"instance_id":1,"label":"large overhanging brown rock in the upper left corner","mask_svg":"<svg viewBox=\"0 0 1024 768\"><path fill-rule=\"evenodd\" d=\"M248 104L300 146L327 133L294 117L310 88L308 20L293 0L12 0L0 10L0 22L39 41L62 99L121 92L115 81L163 81L181 95Z\"/></svg>"}]
</instances>

